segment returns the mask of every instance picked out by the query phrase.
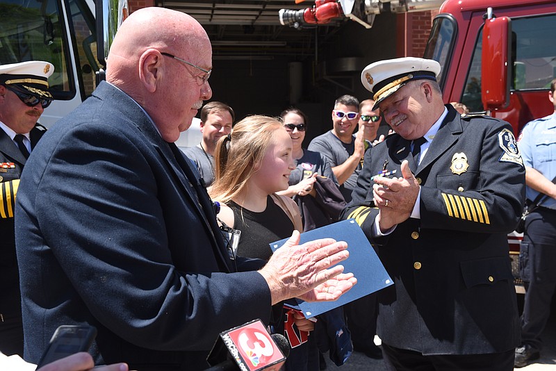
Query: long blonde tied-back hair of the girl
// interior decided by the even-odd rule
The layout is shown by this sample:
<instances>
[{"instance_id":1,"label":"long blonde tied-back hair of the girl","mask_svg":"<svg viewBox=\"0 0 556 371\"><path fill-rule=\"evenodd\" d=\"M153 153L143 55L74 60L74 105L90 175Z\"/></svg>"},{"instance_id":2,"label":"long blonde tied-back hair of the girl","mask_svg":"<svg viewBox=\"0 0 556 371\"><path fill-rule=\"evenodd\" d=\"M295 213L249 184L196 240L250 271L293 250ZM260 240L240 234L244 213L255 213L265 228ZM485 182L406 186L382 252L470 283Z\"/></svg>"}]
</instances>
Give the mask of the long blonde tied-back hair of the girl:
<instances>
[{"instance_id":1,"label":"long blonde tied-back hair of the girl","mask_svg":"<svg viewBox=\"0 0 556 371\"><path fill-rule=\"evenodd\" d=\"M239 195L258 170L273 133L283 128L279 118L252 115L234 125L231 134L220 138L215 149L215 181L209 190L211 198L226 204Z\"/></svg>"}]
</instances>

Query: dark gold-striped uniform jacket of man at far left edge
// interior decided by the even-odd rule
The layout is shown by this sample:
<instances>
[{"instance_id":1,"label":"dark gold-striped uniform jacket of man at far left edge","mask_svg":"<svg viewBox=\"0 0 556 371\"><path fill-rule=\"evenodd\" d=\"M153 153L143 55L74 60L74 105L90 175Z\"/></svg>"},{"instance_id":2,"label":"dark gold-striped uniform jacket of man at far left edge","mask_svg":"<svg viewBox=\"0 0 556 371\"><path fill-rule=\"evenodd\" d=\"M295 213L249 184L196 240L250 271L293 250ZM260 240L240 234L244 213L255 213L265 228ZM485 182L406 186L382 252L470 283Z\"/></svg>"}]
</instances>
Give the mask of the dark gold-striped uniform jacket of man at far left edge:
<instances>
[{"instance_id":1,"label":"dark gold-striped uniform jacket of man at far left edge","mask_svg":"<svg viewBox=\"0 0 556 371\"><path fill-rule=\"evenodd\" d=\"M29 133L31 149L47 129L36 124ZM0 129L0 313L21 316L19 279L14 241L15 195L26 158L9 135Z\"/></svg>"}]
</instances>

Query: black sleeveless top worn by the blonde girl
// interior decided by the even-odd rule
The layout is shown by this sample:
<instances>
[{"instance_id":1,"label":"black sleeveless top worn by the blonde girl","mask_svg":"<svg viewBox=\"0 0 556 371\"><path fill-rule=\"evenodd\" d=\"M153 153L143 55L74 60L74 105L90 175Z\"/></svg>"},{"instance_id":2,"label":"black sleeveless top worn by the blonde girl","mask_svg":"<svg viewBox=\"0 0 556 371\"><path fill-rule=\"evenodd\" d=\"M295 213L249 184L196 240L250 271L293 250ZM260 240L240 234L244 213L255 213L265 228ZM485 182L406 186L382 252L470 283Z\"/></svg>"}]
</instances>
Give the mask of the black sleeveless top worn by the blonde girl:
<instances>
[{"instance_id":1,"label":"black sleeveless top worn by the blonde girl","mask_svg":"<svg viewBox=\"0 0 556 371\"><path fill-rule=\"evenodd\" d=\"M268 261L272 255L270 242L288 238L293 232L293 222L270 196L262 213L242 208L234 201L230 201L228 206L234 211L234 229L241 231L238 256Z\"/></svg>"}]
</instances>

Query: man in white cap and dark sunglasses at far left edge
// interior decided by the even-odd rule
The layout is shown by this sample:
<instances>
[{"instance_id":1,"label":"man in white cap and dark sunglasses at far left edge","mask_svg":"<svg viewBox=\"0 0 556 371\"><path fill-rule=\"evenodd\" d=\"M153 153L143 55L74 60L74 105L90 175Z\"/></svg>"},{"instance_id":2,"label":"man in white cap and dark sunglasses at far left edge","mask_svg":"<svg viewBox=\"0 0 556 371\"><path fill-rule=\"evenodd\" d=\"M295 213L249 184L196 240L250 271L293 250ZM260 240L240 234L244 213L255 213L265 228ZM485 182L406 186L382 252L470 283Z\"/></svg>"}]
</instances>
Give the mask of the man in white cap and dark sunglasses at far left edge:
<instances>
[{"instance_id":1,"label":"man in white cap and dark sunglasses at far left edge","mask_svg":"<svg viewBox=\"0 0 556 371\"><path fill-rule=\"evenodd\" d=\"M52 101L53 72L54 66L42 61L0 65L0 352L8 356L23 356L15 196L26 160L47 130L37 121Z\"/></svg>"}]
</instances>

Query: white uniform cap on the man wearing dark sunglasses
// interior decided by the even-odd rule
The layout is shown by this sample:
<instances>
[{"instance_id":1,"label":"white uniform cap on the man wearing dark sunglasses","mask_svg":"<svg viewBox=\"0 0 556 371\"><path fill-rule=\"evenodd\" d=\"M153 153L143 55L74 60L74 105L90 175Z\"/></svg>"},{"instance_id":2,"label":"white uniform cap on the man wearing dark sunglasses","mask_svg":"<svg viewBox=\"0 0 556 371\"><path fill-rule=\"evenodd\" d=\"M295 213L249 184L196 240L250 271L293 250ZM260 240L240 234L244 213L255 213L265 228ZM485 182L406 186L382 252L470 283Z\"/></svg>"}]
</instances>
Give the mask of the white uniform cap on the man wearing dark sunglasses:
<instances>
[{"instance_id":1,"label":"white uniform cap on the man wearing dark sunglasses","mask_svg":"<svg viewBox=\"0 0 556 371\"><path fill-rule=\"evenodd\" d=\"M53 73L54 65L42 60L0 65L0 83L16 86L40 98L52 99L48 78Z\"/></svg>"}]
</instances>

